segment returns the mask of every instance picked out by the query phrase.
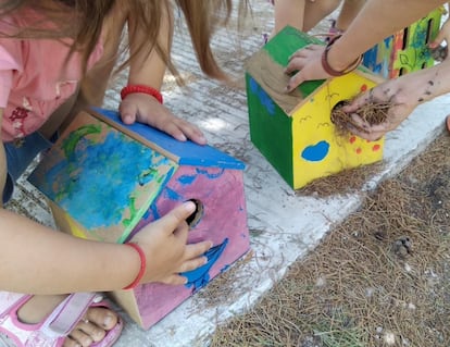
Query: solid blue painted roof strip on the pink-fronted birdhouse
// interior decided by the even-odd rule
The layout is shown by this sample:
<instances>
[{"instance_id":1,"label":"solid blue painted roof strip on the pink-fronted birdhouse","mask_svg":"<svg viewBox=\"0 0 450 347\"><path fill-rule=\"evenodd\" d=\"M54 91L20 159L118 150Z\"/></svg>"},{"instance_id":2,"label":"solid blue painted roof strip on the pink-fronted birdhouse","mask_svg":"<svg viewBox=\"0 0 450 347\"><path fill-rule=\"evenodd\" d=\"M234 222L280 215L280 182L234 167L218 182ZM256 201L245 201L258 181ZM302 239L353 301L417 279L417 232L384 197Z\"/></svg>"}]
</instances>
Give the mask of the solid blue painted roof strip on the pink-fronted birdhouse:
<instances>
[{"instance_id":1,"label":"solid blue painted roof strip on the pink-fronted birdhouse","mask_svg":"<svg viewBox=\"0 0 450 347\"><path fill-rule=\"evenodd\" d=\"M141 123L124 124L116 111L100 108L92 110L178 157L180 165L217 166L234 170L243 170L246 166L243 162L209 145L201 146L190 140L178 141L172 136Z\"/></svg>"}]
</instances>

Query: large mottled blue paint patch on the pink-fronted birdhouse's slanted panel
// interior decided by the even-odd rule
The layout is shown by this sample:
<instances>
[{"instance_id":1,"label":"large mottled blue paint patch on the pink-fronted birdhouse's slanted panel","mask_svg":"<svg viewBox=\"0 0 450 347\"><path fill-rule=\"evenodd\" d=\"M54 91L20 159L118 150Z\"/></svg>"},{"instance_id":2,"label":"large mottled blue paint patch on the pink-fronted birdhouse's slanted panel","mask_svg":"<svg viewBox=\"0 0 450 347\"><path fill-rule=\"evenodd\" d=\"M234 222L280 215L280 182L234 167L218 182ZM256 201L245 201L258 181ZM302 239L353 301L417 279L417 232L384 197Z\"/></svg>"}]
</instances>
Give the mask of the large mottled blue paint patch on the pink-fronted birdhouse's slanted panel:
<instances>
[{"instance_id":1,"label":"large mottled blue paint patch on the pink-fronted birdhouse's slanted panel","mask_svg":"<svg viewBox=\"0 0 450 347\"><path fill-rule=\"evenodd\" d=\"M137 184L154 179L148 173L154 171L155 159L170 164L167 158L121 133L107 134L103 142L83 137L70 158L47 172L46 181L58 189L46 194L88 230L116 225L133 203Z\"/></svg>"}]
</instances>

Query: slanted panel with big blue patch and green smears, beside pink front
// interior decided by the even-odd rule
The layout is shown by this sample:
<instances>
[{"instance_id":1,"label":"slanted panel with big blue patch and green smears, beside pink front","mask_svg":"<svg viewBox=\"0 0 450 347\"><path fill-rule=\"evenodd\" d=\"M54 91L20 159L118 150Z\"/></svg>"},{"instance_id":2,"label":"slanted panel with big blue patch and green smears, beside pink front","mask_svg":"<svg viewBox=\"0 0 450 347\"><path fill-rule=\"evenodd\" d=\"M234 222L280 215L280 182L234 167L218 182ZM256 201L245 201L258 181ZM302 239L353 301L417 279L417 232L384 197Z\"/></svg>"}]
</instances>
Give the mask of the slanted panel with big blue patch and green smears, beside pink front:
<instances>
[{"instance_id":1,"label":"slanted panel with big blue patch and green smears, beside pink front","mask_svg":"<svg viewBox=\"0 0 450 347\"><path fill-rule=\"evenodd\" d=\"M66 221L71 233L122 243L176 169L168 158L82 112L28 179L73 219Z\"/></svg>"}]
</instances>

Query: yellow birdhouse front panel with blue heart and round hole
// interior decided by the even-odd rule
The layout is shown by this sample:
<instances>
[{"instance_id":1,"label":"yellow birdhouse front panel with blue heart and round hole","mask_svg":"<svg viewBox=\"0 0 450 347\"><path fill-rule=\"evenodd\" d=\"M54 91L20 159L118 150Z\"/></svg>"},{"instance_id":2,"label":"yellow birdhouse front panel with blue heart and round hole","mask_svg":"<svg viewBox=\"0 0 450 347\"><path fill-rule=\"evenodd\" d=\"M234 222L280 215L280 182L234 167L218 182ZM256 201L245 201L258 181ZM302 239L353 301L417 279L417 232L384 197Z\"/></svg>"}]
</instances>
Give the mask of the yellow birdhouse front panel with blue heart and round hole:
<instances>
[{"instance_id":1,"label":"yellow birdhouse front panel with blue heart and round hole","mask_svg":"<svg viewBox=\"0 0 450 347\"><path fill-rule=\"evenodd\" d=\"M301 187L317 177L383 159L384 138L366 141L349 133L339 134L330 120L336 104L373 86L373 80L355 74L333 78L296 111L293 186Z\"/></svg>"}]
</instances>

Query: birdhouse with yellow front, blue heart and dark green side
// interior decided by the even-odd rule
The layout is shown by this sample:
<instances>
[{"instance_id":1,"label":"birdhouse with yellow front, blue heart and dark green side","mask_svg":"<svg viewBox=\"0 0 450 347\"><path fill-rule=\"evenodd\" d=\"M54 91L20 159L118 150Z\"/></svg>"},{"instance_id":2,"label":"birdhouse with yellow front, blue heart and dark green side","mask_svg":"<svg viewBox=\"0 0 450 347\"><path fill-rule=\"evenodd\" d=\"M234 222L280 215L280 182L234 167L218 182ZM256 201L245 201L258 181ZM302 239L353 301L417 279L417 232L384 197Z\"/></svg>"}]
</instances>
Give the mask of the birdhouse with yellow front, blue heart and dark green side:
<instances>
[{"instance_id":1,"label":"birdhouse with yellow front, blue heart and dark green side","mask_svg":"<svg viewBox=\"0 0 450 347\"><path fill-rule=\"evenodd\" d=\"M252 55L246 67L250 137L293 188L315 178L382 160L384 139L367 141L339 134L332 110L382 78L360 66L345 76L310 80L284 90L289 57L318 39L287 26Z\"/></svg>"}]
</instances>

